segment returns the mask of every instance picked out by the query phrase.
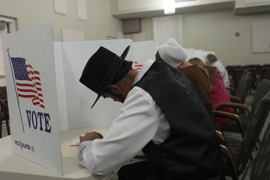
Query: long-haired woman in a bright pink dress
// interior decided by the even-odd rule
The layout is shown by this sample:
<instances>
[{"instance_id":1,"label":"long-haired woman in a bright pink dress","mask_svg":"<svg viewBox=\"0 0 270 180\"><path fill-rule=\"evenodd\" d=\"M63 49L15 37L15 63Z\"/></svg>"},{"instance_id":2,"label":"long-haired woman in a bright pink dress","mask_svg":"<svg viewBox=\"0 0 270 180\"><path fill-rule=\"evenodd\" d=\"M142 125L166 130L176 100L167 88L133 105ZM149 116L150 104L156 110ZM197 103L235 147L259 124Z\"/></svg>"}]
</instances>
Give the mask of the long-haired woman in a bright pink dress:
<instances>
[{"instance_id":1,"label":"long-haired woman in a bright pink dress","mask_svg":"<svg viewBox=\"0 0 270 180\"><path fill-rule=\"evenodd\" d=\"M208 75L211 84L211 102L214 107L220 102L231 102L227 93L226 87L223 83L222 76L216 67L208 67L199 58L192 58L188 60L189 63L199 66ZM233 113L233 108L220 108L219 111ZM229 121L228 118L217 117L217 124L223 124Z\"/></svg>"}]
</instances>

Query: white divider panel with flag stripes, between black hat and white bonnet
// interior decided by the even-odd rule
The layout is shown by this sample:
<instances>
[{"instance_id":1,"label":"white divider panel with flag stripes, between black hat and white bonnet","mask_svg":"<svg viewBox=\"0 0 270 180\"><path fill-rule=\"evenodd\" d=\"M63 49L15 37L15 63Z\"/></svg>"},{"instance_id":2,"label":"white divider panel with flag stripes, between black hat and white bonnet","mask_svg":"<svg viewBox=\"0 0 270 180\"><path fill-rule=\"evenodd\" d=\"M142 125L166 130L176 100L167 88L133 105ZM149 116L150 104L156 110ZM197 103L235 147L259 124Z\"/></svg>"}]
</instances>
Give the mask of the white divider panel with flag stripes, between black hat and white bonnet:
<instances>
[{"instance_id":1,"label":"white divider panel with flag stripes, between black hat and white bonnet","mask_svg":"<svg viewBox=\"0 0 270 180\"><path fill-rule=\"evenodd\" d=\"M133 69L140 70L144 63L149 59L156 60L155 55L155 42L154 41L141 41L134 42L134 62Z\"/></svg>"}]
</instances>

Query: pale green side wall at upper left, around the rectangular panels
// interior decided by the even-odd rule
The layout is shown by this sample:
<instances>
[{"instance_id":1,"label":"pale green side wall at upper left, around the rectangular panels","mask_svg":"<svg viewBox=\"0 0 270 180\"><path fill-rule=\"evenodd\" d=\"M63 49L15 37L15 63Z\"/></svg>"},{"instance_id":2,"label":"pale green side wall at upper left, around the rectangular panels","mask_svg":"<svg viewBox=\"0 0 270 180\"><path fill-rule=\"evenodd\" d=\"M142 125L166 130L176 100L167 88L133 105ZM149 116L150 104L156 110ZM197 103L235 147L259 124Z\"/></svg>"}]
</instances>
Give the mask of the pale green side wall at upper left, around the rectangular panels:
<instances>
[{"instance_id":1,"label":"pale green side wall at upper left, around the rectangular panels","mask_svg":"<svg viewBox=\"0 0 270 180\"><path fill-rule=\"evenodd\" d=\"M17 30L51 22L54 41L62 41L61 28L84 32L85 40L117 38L121 20L111 16L110 0L86 1L87 21L77 19L76 0L66 0L67 15L53 11L53 0L0 0L0 15L17 18Z\"/></svg>"}]
</instances>

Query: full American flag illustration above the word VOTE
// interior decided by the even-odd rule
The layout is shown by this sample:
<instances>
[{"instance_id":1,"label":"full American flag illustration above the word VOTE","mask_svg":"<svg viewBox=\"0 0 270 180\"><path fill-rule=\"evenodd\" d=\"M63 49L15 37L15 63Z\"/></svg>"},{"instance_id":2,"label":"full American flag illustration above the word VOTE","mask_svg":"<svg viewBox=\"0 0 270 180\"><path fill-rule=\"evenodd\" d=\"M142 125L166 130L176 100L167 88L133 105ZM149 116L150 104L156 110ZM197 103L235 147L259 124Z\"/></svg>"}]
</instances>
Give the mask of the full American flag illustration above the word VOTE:
<instances>
[{"instance_id":1,"label":"full American flag illustration above the word VOTE","mask_svg":"<svg viewBox=\"0 0 270 180\"><path fill-rule=\"evenodd\" d=\"M26 59L24 58L10 58L16 79L18 96L31 98L33 105L38 105L45 109L39 72L34 71L31 65L26 64Z\"/></svg>"}]
</instances>

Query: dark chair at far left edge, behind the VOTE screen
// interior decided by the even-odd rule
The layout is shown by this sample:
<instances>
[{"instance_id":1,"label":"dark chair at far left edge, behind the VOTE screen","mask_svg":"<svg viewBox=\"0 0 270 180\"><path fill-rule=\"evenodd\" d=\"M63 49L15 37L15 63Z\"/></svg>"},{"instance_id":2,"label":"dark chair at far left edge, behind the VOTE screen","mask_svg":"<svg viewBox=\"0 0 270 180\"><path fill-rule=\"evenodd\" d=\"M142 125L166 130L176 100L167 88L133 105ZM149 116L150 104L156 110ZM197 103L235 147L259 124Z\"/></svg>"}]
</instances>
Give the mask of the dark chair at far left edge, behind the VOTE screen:
<instances>
[{"instance_id":1,"label":"dark chair at far left edge, behind the VOTE screen","mask_svg":"<svg viewBox=\"0 0 270 180\"><path fill-rule=\"evenodd\" d=\"M0 138L2 137L2 124L6 124L7 134L10 135L8 122L9 122L9 113L7 104L7 88L0 87Z\"/></svg>"}]
</instances>

